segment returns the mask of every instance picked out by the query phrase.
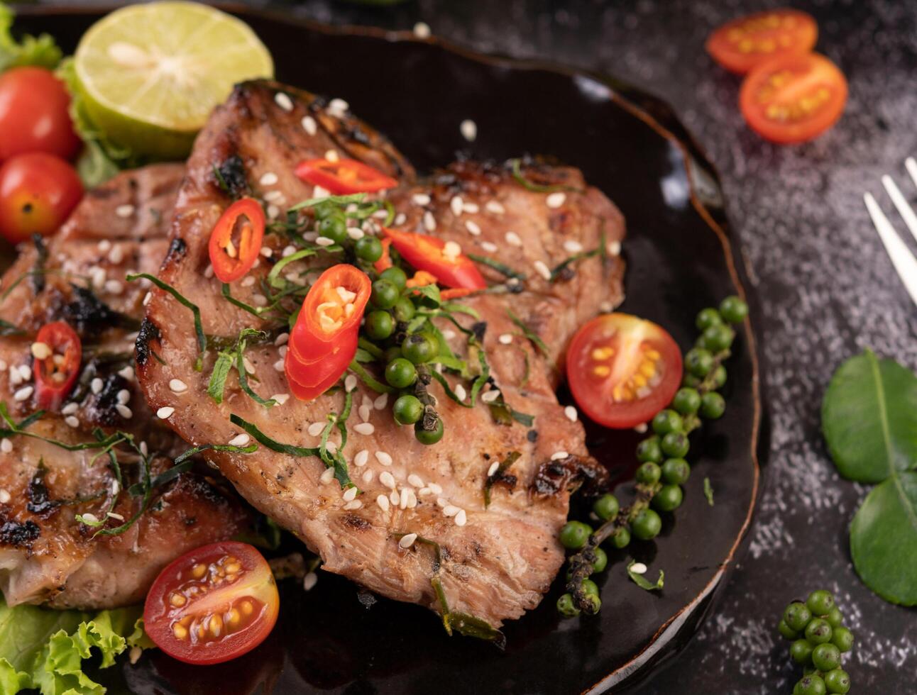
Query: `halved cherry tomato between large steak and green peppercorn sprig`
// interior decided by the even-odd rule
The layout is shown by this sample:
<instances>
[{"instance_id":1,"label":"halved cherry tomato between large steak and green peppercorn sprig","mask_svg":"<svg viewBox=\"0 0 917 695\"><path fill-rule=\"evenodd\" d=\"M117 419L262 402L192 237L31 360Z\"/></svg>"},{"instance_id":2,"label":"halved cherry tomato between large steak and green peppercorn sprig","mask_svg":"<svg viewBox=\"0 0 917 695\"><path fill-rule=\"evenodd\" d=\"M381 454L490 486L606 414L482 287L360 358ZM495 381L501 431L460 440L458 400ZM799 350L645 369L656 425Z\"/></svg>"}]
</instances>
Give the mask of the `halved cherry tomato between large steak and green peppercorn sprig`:
<instances>
[{"instance_id":1,"label":"halved cherry tomato between large steak and green peppercorn sprig","mask_svg":"<svg viewBox=\"0 0 917 695\"><path fill-rule=\"evenodd\" d=\"M667 331L630 314L603 314L580 327L567 351L577 405L614 429L666 407L681 384L681 351Z\"/></svg>"}]
</instances>

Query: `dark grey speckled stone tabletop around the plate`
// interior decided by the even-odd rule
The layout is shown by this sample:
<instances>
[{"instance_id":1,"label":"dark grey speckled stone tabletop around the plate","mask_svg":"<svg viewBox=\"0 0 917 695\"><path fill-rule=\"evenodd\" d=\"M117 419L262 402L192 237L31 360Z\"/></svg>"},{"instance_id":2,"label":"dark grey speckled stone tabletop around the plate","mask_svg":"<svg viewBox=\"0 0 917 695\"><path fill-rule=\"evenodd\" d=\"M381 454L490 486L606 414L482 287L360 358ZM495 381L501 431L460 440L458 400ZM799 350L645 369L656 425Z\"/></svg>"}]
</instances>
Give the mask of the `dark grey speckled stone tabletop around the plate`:
<instances>
[{"instance_id":1,"label":"dark grey speckled stone tabletop around the plate","mask_svg":"<svg viewBox=\"0 0 917 695\"><path fill-rule=\"evenodd\" d=\"M793 3L816 17L818 50L850 81L844 118L801 147L769 145L748 131L736 108L739 80L703 51L704 38L724 20L782 4L273 3L337 24L403 29L424 21L471 49L610 72L671 103L719 169L763 308L757 329L768 366L770 462L750 548L722 601L641 693L789 693L801 673L774 624L791 598L815 587L835 592L856 631L846 662L852 691L917 691L917 614L883 602L857 579L847 525L867 487L838 477L819 432L824 387L846 357L870 346L917 368L917 308L863 205L865 190L882 192L885 173L917 201L903 169L905 157L917 156L917 2ZM892 211L884 193L878 199Z\"/></svg>"}]
</instances>

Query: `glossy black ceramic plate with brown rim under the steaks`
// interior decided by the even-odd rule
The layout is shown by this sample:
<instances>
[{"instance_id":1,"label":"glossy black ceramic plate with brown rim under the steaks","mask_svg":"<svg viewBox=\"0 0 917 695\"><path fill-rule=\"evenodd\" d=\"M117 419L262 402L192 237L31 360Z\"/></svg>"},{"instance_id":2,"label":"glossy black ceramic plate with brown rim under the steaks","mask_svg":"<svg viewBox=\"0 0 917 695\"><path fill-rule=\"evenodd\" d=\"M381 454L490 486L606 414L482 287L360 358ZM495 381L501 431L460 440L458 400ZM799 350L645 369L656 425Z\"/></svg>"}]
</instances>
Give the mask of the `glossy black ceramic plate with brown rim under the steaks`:
<instances>
[{"instance_id":1,"label":"glossy black ceramic plate with brown rim under the steaks","mask_svg":"<svg viewBox=\"0 0 917 695\"><path fill-rule=\"evenodd\" d=\"M346 99L419 170L457 153L530 153L582 168L627 221L621 309L657 321L683 348L694 340L699 309L745 293L716 175L666 104L607 77L473 55L436 39L239 11L271 49L279 80ZM48 31L72 50L100 14L24 9L17 27ZM458 129L466 118L478 125L472 143ZM726 415L696 435L684 505L664 515L656 542L629 548L654 578L665 570L663 592L639 589L624 572L628 556L615 554L596 578L601 614L558 619L562 590L555 582L536 611L506 625L501 652L447 637L421 608L374 602L348 581L322 575L311 592L282 588L280 623L248 657L191 668L153 652L99 677L141 693L248 693L262 683L278 693L567 694L633 684L673 655L711 610L750 522L767 449L750 331L741 332L728 368ZM589 433L592 453L626 480L638 435L598 427ZM702 492L704 477L713 506Z\"/></svg>"}]
</instances>

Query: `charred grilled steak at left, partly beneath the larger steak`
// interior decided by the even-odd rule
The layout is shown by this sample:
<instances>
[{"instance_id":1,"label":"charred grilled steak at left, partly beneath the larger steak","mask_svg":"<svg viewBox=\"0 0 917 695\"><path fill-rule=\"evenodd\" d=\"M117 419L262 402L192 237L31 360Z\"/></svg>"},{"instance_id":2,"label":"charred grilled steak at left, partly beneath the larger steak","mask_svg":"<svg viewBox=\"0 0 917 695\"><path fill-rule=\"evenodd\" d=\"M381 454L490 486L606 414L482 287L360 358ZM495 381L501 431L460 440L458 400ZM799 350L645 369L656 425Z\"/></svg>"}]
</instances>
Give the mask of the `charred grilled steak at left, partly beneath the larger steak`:
<instances>
[{"instance_id":1,"label":"charred grilled steak at left, partly beneath the larger steak","mask_svg":"<svg viewBox=\"0 0 917 695\"><path fill-rule=\"evenodd\" d=\"M86 193L61 232L29 244L3 277L0 393L12 418L36 409L31 343L39 328L66 320L83 341L83 370L60 412L28 431L78 445L96 427L129 432L151 457L152 474L187 446L164 428L138 393L133 343L147 292L125 283L130 269L155 272L165 255L175 193L184 169L157 165L118 175ZM191 472L153 492L149 511L126 532L93 538L77 514L105 518L112 494L136 483L137 451L118 455L119 486L98 450L66 451L15 435L0 441L0 589L6 603L109 608L142 601L161 568L186 550L229 538L246 521L232 494ZM224 483L225 484L225 483ZM141 508L122 492L106 527ZM120 517L120 518L119 518Z\"/></svg>"}]
</instances>

